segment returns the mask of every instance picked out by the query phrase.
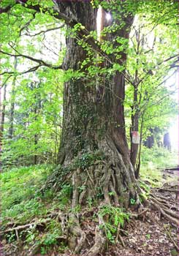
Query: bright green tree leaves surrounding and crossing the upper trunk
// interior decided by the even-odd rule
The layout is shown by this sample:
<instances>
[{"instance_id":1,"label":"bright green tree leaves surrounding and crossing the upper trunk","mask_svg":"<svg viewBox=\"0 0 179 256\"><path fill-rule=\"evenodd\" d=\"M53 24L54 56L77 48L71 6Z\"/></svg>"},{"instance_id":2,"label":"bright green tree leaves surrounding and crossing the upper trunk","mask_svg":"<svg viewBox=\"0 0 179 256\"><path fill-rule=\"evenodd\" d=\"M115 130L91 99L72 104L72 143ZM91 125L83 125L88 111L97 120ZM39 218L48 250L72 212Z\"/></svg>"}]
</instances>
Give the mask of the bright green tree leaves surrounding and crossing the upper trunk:
<instances>
[{"instance_id":1,"label":"bright green tree leaves surrounding and crossing the upper trunk","mask_svg":"<svg viewBox=\"0 0 179 256\"><path fill-rule=\"evenodd\" d=\"M12 3L14 1L1 1L1 7ZM28 4L32 7L38 7L39 4L39 12L33 8L26 8ZM96 31L88 31L83 38L79 37L79 32L85 30L81 23L75 23L71 29L61 27L62 22L56 18L56 12L53 10L53 1L28 1L25 7L21 4L12 4L10 15L7 12L1 13L0 40L1 50L4 52L2 53L2 82L7 80L8 87L11 87L8 90L12 91L12 82L15 80L15 94L11 95L7 104L7 118L4 126L2 159L5 166L29 165L36 161L56 162L61 136L63 97L59 87L66 80L83 78L88 80L88 85L98 87L98 83L103 83L104 76L110 80L115 72L123 72L126 66L128 83L124 102L126 123L129 123L129 127L131 124L128 118L136 111L140 111L140 124L142 118L144 120L142 138L148 136L150 127L168 127L168 117L175 115L177 104L170 97L171 91L166 86L159 86L159 83L162 82L169 66L173 63L172 59L164 60L175 55L178 48L177 3L132 0L121 3L117 0L109 2L94 0L91 4L94 8L101 4L113 16L111 26L106 26L101 31L103 38L101 42L97 42ZM157 13L156 10L158 10ZM26 15L21 15L22 13ZM135 15L130 39L117 35L113 40L107 39L110 38L109 35L115 35L118 31L125 29L126 23L122 13ZM58 27L61 28L58 29ZM7 33L7 29L10 33ZM140 38L138 31L140 31ZM66 37L74 37L77 44L86 52L86 58L80 64L80 68L75 72L69 68L65 74L59 71L65 53L64 34ZM140 40L138 50L137 38ZM96 53L93 46L88 43L89 39L94 40L102 50L102 54ZM121 59L122 52L128 55L126 64L118 61ZM12 56L17 53L19 54L18 67L15 68ZM30 59L26 56L30 56ZM32 56L38 61L33 61ZM113 56L113 62L110 65L104 65L107 56ZM34 66L34 63L39 66ZM20 78L20 74L23 78ZM135 102L134 86L131 82L140 81L140 78L144 78L138 84L138 94L141 99ZM35 84L34 80L37 80L34 87L39 86L39 88L31 89L31 84ZM155 94L153 94L154 91ZM15 101L14 134L13 138L9 139L9 109L12 100ZM41 107L37 109L35 107L39 102Z\"/></svg>"}]
</instances>

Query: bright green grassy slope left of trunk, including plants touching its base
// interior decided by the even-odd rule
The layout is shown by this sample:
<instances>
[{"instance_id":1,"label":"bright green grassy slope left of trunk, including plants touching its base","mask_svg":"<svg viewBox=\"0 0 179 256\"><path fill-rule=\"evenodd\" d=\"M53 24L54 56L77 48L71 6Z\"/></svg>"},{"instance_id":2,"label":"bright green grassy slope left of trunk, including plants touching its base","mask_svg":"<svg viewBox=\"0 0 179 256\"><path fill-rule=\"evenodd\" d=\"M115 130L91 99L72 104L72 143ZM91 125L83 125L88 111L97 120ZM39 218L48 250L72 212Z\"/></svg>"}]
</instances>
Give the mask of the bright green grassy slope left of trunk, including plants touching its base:
<instances>
[{"instance_id":1,"label":"bright green grassy slope left of trunk, including plants touching its base","mask_svg":"<svg viewBox=\"0 0 179 256\"><path fill-rule=\"evenodd\" d=\"M72 187L68 184L60 192L52 189L43 194L39 192L52 170L50 165L32 165L12 168L0 174L2 226L9 220L29 223L35 217L45 217L49 211L67 207L72 194Z\"/></svg>"}]
</instances>

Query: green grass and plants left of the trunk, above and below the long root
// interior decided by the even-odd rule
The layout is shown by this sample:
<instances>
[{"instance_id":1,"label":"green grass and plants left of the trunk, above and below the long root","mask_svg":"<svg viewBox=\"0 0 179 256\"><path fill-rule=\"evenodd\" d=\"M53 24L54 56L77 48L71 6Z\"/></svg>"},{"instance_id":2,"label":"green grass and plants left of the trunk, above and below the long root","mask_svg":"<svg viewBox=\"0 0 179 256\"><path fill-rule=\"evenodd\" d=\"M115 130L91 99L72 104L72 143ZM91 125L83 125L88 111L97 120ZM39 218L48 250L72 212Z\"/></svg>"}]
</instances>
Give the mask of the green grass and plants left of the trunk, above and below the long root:
<instances>
[{"instance_id":1,"label":"green grass and plants left of the trunk, above and below the long root","mask_svg":"<svg viewBox=\"0 0 179 256\"><path fill-rule=\"evenodd\" d=\"M16 167L0 174L1 181L1 229L7 229L7 223L17 225L28 224L36 219L46 219L50 211L68 207L71 187L64 185L60 192L48 189L43 195L39 192L51 171L50 165L33 165ZM39 245L39 252L45 255L54 246L64 251L66 245L58 241L61 236L61 224L51 219L40 232L35 227L29 227L20 232L24 246ZM5 236L9 244L15 243L14 232Z\"/></svg>"}]
</instances>

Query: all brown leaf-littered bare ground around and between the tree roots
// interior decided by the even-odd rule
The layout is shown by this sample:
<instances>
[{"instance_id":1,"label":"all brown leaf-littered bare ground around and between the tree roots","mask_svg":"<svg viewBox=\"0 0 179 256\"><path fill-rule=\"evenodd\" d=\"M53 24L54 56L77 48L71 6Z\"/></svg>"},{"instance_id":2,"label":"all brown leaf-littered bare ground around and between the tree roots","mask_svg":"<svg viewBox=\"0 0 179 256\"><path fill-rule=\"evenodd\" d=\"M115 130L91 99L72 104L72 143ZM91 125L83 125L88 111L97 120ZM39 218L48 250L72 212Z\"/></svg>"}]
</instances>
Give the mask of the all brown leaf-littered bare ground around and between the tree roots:
<instances>
[{"instance_id":1,"label":"all brown leaf-littered bare ground around and between the tree roots","mask_svg":"<svg viewBox=\"0 0 179 256\"><path fill-rule=\"evenodd\" d=\"M176 171L164 171L163 180L166 180L163 184L163 188L173 188L178 185L178 170ZM178 214L178 198L175 193L169 191L162 191L154 187L151 192L164 198L167 203L170 204L170 209ZM142 209L143 211L143 209ZM88 249L91 248L95 236L95 227L97 219L94 218L97 207L88 209L82 209L80 211L81 221L80 225L85 231L87 238L87 244L85 249L81 252L81 255L87 255ZM135 211L130 210L131 214L135 214ZM46 255L46 256L75 256L66 248L66 252L60 253L58 245L54 245L53 249L46 254L31 254L29 248L7 244L5 240L2 241L1 256L14 255L14 256L30 256L30 255ZM145 214L140 217L132 217L129 222L126 222L122 227L121 233L118 236L118 242L116 244L107 245L107 252L101 253L98 256L177 256L178 255L178 227L172 225L167 219L161 217L159 211L153 209L147 209Z\"/></svg>"}]
</instances>

